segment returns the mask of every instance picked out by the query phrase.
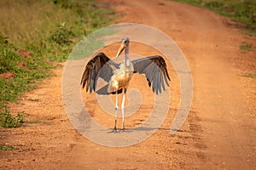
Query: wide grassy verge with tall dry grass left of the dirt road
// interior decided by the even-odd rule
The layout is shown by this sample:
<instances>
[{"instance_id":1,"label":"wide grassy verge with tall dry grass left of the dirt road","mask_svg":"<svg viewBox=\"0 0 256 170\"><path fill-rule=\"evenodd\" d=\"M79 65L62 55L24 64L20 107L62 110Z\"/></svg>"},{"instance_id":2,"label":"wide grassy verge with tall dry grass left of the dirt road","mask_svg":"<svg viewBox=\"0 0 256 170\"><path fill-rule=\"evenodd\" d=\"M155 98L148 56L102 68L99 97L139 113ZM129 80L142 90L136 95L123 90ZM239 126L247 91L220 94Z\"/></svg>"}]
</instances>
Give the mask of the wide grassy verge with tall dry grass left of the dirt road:
<instances>
[{"instance_id":1,"label":"wide grassy verge with tall dry grass left of the dirt road","mask_svg":"<svg viewBox=\"0 0 256 170\"><path fill-rule=\"evenodd\" d=\"M90 0L1 0L0 125L8 127L11 122L4 121L9 118L18 127L19 119L6 105L37 88L76 42L107 26L113 14Z\"/></svg>"}]
</instances>

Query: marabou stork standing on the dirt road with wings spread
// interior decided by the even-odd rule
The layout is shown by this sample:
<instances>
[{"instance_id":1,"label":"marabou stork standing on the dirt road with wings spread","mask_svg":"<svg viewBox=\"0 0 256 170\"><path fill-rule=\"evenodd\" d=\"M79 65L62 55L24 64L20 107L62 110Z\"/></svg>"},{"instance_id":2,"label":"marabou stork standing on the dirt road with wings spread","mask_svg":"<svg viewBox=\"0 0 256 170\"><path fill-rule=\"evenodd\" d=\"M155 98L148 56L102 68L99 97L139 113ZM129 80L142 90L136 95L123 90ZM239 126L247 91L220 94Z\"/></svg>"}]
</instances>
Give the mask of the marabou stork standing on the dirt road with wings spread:
<instances>
[{"instance_id":1,"label":"marabou stork standing on the dirt road with wings spread","mask_svg":"<svg viewBox=\"0 0 256 170\"><path fill-rule=\"evenodd\" d=\"M152 86L155 94L161 93L161 88L166 90L165 82L167 86L169 86L167 78L171 81L166 69L165 59L160 55L154 55L130 60L129 43L130 40L128 37L123 38L116 55L116 58L118 58L119 54L125 49L125 59L123 63L118 64L114 62L104 53L96 54L85 66L85 71L81 79L81 85L83 88L85 87L86 92L88 92L90 88L90 93L93 90L96 94L116 94L115 120L113 130L111 131L113 133L117 132L118 94L121 93L123 93L121 104L123 128L120 129L120 132L125 130L125 94L133 73L138 72L144 74L147 78L148 86ZM102 77L108 84L96 90L98 77Z\"/></svg>"}]
</instances>

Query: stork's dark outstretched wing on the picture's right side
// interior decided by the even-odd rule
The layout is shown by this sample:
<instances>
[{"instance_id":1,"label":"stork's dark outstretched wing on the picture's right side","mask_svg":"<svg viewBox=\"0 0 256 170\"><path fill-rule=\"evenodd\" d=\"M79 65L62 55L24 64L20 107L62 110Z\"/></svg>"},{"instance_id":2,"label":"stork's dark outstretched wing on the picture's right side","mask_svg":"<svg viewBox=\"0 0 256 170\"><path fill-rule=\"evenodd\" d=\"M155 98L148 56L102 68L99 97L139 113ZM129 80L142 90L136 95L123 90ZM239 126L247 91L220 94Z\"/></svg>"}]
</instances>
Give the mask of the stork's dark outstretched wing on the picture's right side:
<instances>
[{"instance_id":1,"label":"stork's dark outstretched wing on the picture's right side","mask_svg":"<svg viewBox=\"0 0 256 170\"><path fill-rule=\"evenodd\" d=\"M171 81L171 79L166 69L166 61L160 55L135 59L131 62L134 72L145 74L148 80L148 86L152 86L154 93L161 93L161 88L166 90L165 82L169 86L168 80Z\"/></svg>"}]
</instances>

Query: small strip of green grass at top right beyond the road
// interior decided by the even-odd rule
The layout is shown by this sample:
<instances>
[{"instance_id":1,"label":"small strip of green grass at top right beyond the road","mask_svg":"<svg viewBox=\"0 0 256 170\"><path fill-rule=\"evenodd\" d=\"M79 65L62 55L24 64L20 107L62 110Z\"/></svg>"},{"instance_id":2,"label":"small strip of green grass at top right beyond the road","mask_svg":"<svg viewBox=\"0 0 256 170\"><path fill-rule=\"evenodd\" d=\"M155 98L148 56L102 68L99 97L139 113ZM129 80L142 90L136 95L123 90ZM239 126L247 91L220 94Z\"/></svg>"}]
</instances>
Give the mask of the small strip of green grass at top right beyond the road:
<instances>
[{"instance_id":1,"label":"small strip of green grass at top right beyond the road","mask_svg":"<svg viewBox=\"0 0 256 170\"><path fill-rule=\"evenodd\" d=\"M177 2L208 8L244 23L251 34L256 34L256 1L253 0L176 0Z\"/></svg>"}]
</instances>

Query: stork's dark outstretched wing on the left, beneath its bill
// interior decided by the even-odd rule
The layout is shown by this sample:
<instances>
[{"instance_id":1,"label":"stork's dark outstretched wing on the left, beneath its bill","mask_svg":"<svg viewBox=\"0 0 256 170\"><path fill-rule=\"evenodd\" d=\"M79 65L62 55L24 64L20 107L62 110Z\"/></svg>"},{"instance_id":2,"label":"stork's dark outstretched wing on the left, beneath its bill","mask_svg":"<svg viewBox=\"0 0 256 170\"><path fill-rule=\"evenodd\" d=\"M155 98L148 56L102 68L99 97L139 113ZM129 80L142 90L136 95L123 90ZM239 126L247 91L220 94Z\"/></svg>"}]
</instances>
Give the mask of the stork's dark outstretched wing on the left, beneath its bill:
<instances>
[{"instance_id":1,"label":"stork's dark outstretched wing on the left, beneath its bill","mask_svg":"<svg viewBox=\"0 0 256 170\"><path fill-rule=\"evenodd\" d=\"M96 54L94 58L90 59L85 66L85 71L81 79L81 85L83 88L85 87L86 92L88 92L89 88L90 93L92 90L96 90L98 77L102 77L103 80L108 82L113 75L113 67L116 67L116 63L110 60L104 53ZM101 71L101 69L104 71ZM101 73L99 74L99 72Z\"/></svg>"}]
</instances>

